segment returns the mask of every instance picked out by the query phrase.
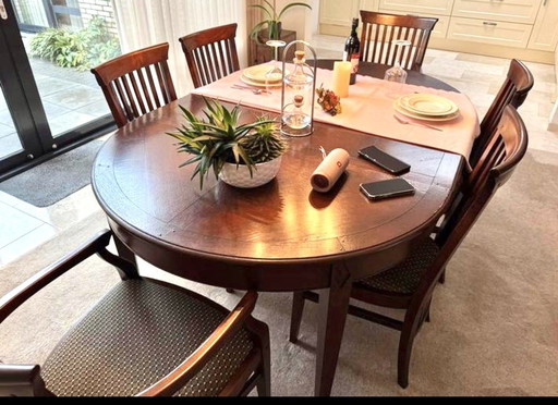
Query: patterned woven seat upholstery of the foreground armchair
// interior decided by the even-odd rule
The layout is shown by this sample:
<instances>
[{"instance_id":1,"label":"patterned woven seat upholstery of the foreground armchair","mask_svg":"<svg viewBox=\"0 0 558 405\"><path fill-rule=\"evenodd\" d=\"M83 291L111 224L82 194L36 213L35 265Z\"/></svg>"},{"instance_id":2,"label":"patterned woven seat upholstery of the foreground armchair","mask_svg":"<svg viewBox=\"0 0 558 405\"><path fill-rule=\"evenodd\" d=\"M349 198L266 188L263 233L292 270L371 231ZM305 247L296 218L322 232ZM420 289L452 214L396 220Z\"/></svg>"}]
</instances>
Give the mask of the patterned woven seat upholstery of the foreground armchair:
<instances>
[{"instance_id":1,"label":"patterned woven seat upholstery of the foreground armchair","mask_svg":"<svg viewBox=\"0 0 558 405\"><path fill-rule=\"evenodd\" d=\"M123 281L64 335L41 375L61 396L137 394L186 359L227 315L179 290ZM241 329L178 394L218 394L252 348Z\"/></svg>"}]
</instances>

